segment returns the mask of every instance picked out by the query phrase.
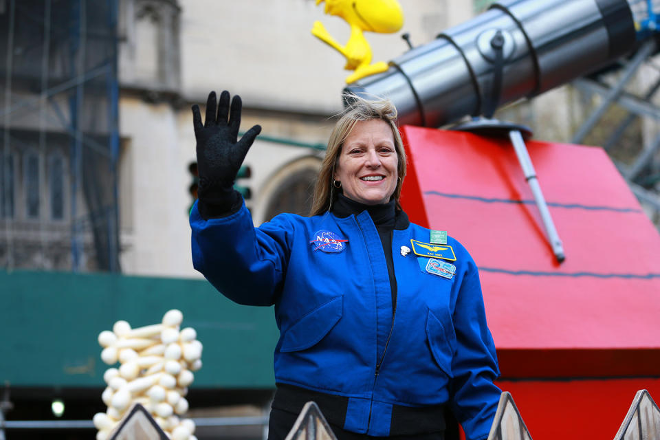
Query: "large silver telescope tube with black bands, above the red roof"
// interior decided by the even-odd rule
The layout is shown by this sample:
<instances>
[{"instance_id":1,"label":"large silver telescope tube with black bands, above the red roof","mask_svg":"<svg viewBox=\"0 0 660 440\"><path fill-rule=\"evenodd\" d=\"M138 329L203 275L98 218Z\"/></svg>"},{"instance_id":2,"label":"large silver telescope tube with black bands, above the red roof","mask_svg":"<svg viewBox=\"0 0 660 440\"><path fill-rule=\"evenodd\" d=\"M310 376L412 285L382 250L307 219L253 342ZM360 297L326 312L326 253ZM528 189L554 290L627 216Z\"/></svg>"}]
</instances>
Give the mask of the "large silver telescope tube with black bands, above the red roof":
<instances>
[{"instance_id":1,"label":"large silver telescope tube with black bands, above the red roof","mask_svg":"<svg viewBox=\"0 0 660 440\"><path fill-rule=\"evenodd\" d=\"M491 46L498 31L504 38L499 94ZM399 124L437 127L542 94L612 63L635 43L626 0L504 0L344 91L387 96Z\"/></svg>"}]
</instances>

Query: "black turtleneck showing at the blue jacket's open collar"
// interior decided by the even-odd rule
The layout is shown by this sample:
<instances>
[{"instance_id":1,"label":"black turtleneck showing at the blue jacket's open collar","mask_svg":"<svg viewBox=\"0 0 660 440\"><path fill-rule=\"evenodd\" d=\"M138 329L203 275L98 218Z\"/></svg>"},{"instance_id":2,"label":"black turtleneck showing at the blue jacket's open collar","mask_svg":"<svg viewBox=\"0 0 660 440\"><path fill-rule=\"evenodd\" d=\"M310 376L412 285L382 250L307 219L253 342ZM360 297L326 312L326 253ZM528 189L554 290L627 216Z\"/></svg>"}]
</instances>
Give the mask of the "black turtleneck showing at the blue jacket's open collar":
<instances>
[{"instance_id":1,"label":"black turtleneck showing at the blue jacket's open collar","mask_svg":"<svg viewBox=\"0 0 660 440\"><path fill-rule=\"evenodd\" d=\"M383 252L385 252L387 273L390 278L390 290L392 292L393 313L397 304L397 278L394 276L394 261L392 258L392 231L408 227L408 216L403 211L397 212L395 207L395 200L378 205L365 205L359 201L351 200L343 194L338 194L332 206L332 213L340 218L349 217L351 214L358 215L362 211L369 212L380 236Z\"/></svg>"}]
</instances>

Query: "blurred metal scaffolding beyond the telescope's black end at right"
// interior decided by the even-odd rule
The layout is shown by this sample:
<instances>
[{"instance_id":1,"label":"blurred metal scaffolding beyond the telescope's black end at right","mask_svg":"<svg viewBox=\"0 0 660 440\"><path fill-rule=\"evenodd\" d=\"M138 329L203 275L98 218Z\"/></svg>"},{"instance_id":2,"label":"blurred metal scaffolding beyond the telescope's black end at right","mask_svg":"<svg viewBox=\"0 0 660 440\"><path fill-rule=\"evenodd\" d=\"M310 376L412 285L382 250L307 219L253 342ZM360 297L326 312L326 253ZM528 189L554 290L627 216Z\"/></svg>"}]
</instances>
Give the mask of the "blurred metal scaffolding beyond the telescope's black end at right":
<instances>
[{"instance_id":1,"label":"blurred metal scaffolding beyond the telescope's black end at right","mask_svg":"<svg viewBox=\"0 0 660 440\"><path fill-rule=\"evenodd\" d=\"M602 145L630 190L660 228L660 1L628 0L638 47L573 86L592 102L571 142ZM641 83L646 83L639 87ZM641 92L635 89L643 89Z\"/></svg>"}]
</instances>

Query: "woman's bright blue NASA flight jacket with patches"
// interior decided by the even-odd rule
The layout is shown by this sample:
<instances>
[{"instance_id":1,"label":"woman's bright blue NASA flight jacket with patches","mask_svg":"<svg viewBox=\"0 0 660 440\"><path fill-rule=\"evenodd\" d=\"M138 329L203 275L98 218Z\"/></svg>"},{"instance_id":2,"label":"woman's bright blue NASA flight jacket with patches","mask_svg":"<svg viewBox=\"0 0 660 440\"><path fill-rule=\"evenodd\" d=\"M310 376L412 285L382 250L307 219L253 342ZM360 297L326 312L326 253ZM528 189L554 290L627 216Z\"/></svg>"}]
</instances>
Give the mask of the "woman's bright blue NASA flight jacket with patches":
<instances>
[{"instance_id":1,"label":"woman's bright blue NASA flight jacket with patches","mask_svg":"<svg viewBox=\"0 0 660 440\"><path fill-rule=\"evenodd\" d=\"M423 270L428 258L401 255L411 239L429 243L428 229L393 231L393 313L382 242L366 211L280 214L254 228L245 205L204 220L195 204L190 225L195 269L219 292L275 305L276 382L348 397L344 429L352 432L387 436L393 404L448 403L467 439L487 437L499 371L477 268L458 241L448 238L456 255L448 279ZM344 249L325 252L320 231L347 240Z\"/></svg>"}]
</instances>

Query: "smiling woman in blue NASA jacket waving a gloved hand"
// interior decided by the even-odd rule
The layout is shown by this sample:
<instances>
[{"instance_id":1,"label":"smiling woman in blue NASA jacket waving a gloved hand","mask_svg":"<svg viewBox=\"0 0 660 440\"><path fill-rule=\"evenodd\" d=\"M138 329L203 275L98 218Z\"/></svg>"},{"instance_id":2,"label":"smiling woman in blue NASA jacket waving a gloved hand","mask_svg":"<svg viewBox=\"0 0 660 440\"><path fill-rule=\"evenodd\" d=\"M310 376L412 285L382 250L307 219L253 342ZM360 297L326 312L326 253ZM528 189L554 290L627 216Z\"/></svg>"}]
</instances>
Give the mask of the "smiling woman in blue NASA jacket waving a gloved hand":
<instances>
[{"instance_id":1,"label":"smiling woman in blue NASA jacket waving a gloved hand","mask_svg":"<svg viewBox=\"0 0 660 440\"><path fill-rule=\"evenodd\" d=\"M236 141L241 100L230 111L229 98L223 91L217 106L209 95L204 125L192 108L192 257L236 303L275 305L270 439L283 439L310 400L338 439L443 439L447 407L467 439L485 439L500 390L477 268L458 241L432 243L401 209L406 156L392 104L351 97L312 216L254 228L232 183L261 127Z\"/></svg>"}]
</instances>

